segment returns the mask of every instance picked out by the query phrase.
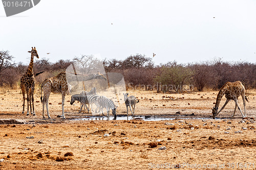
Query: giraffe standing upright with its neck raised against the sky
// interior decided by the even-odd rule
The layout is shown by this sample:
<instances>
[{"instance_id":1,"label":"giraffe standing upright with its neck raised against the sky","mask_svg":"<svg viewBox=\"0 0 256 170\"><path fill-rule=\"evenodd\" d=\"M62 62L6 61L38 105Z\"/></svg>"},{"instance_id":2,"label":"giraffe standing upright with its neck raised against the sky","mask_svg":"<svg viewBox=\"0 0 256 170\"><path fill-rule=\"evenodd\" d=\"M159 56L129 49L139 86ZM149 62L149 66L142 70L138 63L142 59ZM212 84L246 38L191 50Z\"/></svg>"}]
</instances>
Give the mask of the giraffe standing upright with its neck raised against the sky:
<instances>
[{"instance_id":1,"label":"giraffe standing upright with its neck raised against the sky","mask_svg":"<svg viewBox=\"0 0 256 170\"><path fill-rule=\"evenodd\" d=\"M34 63L34 56L36 58L38 57L36 48L32 47L31 51L28 51L28 53L31 53L31 59L29 66L27 68L27 71L22 78L20 78L20 88L22 89L22 95L23 95L23 111L25 109L25 92L27 93L27 101L28 101L28 111L27 115L29 115L29 104L30 104L30 112L32 114L32 109L31 109L31 100L33 104L33 115L35 115L35 110L34 110L34 89L35 89L35 77L34 77L34 72L33 72L33 63Z\"/></svg>"}]
</instances>

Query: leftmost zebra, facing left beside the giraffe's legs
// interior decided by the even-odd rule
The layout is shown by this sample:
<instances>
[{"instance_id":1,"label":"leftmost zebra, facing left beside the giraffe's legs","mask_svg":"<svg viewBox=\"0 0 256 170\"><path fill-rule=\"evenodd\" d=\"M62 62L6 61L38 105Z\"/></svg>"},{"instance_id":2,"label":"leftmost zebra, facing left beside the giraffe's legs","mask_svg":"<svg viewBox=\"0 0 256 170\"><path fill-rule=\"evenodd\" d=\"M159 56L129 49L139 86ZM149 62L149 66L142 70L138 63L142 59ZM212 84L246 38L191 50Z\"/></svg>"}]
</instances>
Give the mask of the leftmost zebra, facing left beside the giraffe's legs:
<instances>
[{"instance_id":1,"label":"leftmost zebra, facing left beside the giraffe's legs","mask_svg":"<svg viewBox=\"0 0 256 170\"><path fill-rule=\"evenodd\" d=\"M89 107L90 107L90 104L95 103L98 98L99 98L99 95L95 95L95 94L92 94L92 95L74 94L74 95L71 96L70 104L73 105L73 103L74 103L75 101L78 101L78 102L80 102L80 110L79 110L79 113L80 113L81 110L82 110L82 106L86 106L86 108L87 108L87 110L88 110L88 113L89 113L90 108L88 109L88 107L87 107L86 104L89 104Z\"/></svg>"}]
</instances>

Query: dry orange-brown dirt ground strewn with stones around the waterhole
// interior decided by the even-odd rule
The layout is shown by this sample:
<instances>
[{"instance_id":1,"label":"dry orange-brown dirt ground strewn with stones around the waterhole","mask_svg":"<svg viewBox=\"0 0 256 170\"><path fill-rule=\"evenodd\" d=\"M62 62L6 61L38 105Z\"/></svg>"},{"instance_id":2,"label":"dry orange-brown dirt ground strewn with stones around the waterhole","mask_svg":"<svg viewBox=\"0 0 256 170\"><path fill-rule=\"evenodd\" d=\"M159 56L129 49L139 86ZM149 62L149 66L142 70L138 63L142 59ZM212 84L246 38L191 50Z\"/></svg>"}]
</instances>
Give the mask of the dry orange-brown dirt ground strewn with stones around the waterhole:
<instances>
[{"instance_id":1,"label":"dry orange-brown dirt ground strewn with stones around the waterhole","mask_svg":"<svg viewBox=\"0 0 256 170\"><path fill-rule=\"evenodd\" d=\"M136 115L171 120L77 120L95 114L78 113L80 104L70 105L70 95L65 102L67 119L63 120L57 117L61 114L60 94L50 96L52 118L42 119L38 91L36 116L21 113L19 89L1 91L0 119L26 123L0 125L0 169L256 169L255 90L247 95L248 119L243 123L238 110L231 118L233 101L218 119L211 118L218 91L129 93L140 100ZM241 98L239 101L243 108ZM221 106L224 102L225 98ZM120 104L117 114L125 113L124 104ZM34 138L27 138L31 136ZM159 150L161 147L166 149Z\"/></svg>"}]
</instances>

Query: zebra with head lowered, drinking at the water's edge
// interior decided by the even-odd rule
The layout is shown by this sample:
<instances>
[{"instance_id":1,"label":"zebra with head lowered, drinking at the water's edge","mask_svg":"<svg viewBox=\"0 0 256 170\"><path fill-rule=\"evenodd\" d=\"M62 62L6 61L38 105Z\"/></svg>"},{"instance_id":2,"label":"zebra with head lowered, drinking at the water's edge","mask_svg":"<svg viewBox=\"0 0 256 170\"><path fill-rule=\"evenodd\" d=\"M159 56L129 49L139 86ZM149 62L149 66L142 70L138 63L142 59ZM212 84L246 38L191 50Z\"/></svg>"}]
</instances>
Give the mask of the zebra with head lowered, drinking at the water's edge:
<instances>
[{"instance_id":1,"label":"zebra with head lowered, drinking at the water's edge","mask_svg":"<svg viewBox=\"0 0 256 170\"><path fill-rule=\"evenodd\" d=\"M101 95L101 96L99 96L99 98L97 98L95 104L99 106L99 114L100 114L100 109L101 109L102 115L104 115L103 108L106 108L106 117L109 119L110 118L110 109L112 109L112 114L114 115L114 119L116 119L116 108L117 107L115 106L114 102L111 99L106 98L106 96Z\"/></svg>"}]
</instances>

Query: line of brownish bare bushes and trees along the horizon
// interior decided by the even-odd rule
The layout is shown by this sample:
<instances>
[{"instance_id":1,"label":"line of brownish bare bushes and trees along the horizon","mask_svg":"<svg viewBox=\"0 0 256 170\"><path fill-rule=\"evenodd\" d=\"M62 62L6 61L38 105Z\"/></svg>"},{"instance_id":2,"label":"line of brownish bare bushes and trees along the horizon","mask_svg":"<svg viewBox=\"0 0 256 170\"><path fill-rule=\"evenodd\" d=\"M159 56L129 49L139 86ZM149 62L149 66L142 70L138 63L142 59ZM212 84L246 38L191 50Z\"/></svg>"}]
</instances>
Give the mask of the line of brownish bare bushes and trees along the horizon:
<instances>
[{"instance_id":1,"label":"line of brownish bare bushes and trees along the horizon","mask_svg":"<svg viewBox=\"0 0 256 170\"><path fill-rule=\"evenodd\" d=\"M176 61L155 65L151 57L136 54L124 60L105 59L99 61L94 56L81 55L72 60L34 59L34 75L37 84L48 77L56 76L72 63L88 74L102 66L105 72L118 72L124 77L126 89L157 90L157 92L184 92L205 88L220 89L227 81L240 80L246 89L256 88L256 64L249 62L225 62L221 59L198 63L180 64ZM19 86L28 65L15 63L8 51L0 51L0 86Z\"/></svg>"}]
</instances>

